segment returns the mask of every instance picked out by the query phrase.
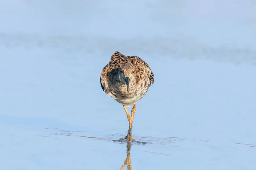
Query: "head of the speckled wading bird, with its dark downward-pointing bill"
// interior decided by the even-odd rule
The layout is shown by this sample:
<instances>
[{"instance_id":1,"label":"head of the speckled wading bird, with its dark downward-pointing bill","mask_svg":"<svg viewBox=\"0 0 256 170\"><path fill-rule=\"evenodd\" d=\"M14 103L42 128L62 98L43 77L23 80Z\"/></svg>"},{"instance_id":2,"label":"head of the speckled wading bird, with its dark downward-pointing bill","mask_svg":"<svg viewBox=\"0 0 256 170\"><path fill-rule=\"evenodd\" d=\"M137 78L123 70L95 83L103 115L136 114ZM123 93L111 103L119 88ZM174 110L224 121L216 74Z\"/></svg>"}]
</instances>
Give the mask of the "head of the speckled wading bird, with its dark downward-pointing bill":
<instances>
[{"instance_id":1,"label":"head of the speckled wading bird, with its dark downward-pointing bill","mask_svg":"<svg viewBox=\"0 0 256 170\"><path fill-rule=\"evenodd\" d=\"M135 78L135 65L131 63L122 64L119 68L119 79L126 84L127 92L129 92L131 82L135 82Z\"/></svg>"}]
</instances>

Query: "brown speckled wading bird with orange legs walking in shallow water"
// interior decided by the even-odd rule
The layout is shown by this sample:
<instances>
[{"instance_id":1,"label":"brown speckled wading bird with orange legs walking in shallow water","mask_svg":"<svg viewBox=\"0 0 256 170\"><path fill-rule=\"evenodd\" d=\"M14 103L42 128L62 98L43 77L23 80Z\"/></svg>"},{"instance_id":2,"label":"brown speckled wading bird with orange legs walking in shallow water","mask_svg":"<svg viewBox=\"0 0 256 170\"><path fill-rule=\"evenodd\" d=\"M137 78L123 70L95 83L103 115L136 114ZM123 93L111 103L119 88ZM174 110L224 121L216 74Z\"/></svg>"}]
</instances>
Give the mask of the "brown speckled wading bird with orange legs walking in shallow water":
<instances>
[{"instance_id":1,"label":"brown speckled wading bird with orange legs walking in shallow water","mask_svg":"<svg viewBox=\"0 0 256 170\"><path fill-rule=\"evenodd\" d=\"M115 51L108 64L103 67L100 74L102 90L116 102L122 104L129 122L129 129L124 141L135 141L132 137L132 124L136 105L153 83L154 74L151 68L137 56L125 56L119 51ZM126 107L132 105L130 115Z\"/></svg>"}]
</instances>

